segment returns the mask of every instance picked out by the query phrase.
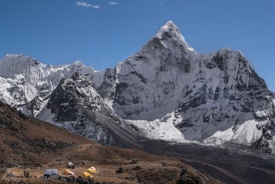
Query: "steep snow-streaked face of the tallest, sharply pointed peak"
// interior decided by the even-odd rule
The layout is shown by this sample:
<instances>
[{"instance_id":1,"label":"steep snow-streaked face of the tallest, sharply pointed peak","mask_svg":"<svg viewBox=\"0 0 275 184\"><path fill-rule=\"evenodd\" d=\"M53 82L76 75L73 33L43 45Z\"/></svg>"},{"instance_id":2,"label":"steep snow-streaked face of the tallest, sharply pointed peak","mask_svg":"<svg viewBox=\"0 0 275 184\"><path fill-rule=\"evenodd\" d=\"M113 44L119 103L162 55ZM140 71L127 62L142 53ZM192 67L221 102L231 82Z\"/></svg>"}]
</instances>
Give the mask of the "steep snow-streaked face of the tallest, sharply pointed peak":
<instances>
[{"instance_id":1,"label":"steep snow-streaked face of the tallest, sharply pointed peak","mask_svg":"<svg viewBox=\"0 0 275 184\"><path fill-rule=\"evenodd\" d=\"M133 56L120 63L113 109L126 119L153 120L179 105L196 52L169 21Z\"/></svg>"}]
</instances>

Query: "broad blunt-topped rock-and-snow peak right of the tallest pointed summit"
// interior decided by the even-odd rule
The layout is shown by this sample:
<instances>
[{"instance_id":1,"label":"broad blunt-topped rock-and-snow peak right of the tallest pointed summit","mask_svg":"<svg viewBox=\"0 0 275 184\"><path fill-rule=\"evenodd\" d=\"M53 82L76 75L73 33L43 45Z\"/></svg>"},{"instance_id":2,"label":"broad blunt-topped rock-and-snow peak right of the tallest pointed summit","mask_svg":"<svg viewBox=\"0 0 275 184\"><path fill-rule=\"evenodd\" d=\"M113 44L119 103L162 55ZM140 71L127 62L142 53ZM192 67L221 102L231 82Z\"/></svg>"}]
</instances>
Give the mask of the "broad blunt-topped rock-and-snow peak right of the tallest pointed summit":
<instances>
[{"instance_id":1,"label":"broad blunt-topped rock-and-snow peak right of the tallest pointed summit","mask_svg":"<svg viewBox=\"0 0 275 184\"><path fill-rule=\"evenodd\" d=\"M217 138L249 145L259 139L254 123L248 129L251 134L241 133L239 128L256 119L256 112L263 110L272 92L241 52L220 50L210 56L201 55L195 62L198 64L192 76L193 88L176 110L183 117L176 127L185 138L202 141L220 131L220 135L206 142Z\"/></svg>"}]
</instances>

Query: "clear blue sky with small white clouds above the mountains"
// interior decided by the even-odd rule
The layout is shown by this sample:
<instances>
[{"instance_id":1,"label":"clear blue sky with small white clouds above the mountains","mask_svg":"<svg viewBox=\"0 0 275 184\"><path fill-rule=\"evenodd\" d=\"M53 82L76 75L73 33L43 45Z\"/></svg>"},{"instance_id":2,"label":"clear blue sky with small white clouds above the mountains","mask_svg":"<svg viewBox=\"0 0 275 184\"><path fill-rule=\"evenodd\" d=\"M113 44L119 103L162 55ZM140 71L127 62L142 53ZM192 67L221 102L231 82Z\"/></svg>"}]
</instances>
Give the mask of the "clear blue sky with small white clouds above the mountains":
<instances>
[{"instance_id":1,"label":"clear blue sky with small white clouds above the mountains","mask_svg":"<svg viewBox=\"0 0 275 184\"><path fill-rule=\"evenodd\" d=\"M274 0L1 0L0 57L111 68L173 20L199 53L241 50L275 91Z\"/></svg>"}]
</instances>

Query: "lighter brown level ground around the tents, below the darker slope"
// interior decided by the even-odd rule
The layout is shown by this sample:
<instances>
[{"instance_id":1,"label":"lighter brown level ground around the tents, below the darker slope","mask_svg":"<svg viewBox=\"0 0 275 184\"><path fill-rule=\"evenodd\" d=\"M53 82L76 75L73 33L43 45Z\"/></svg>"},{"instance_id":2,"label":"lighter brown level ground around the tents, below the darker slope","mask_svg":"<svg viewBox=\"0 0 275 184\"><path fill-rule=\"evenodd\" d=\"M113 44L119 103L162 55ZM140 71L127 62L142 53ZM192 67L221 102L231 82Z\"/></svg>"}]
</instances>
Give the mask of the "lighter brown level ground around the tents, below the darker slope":
<instances>
[{"instance_id":1,"label":"lighter brown level ground around the tents, below the darker slope","mask_svg":"<svg viewBox=\"0 0 275 184\"><path fill-rule=\"evenodd\" d=\"M72 171L76 177L81 176L88 167L95 166L98 169L98 174L94 174L93 180L99 183L181 183L187 181L190 183L219 183L177 159L152 156L134 150L109 148L102 149L101 145L91 144L67 148L64 150L63 156L56 161L45 163L41 167L8 168L8 173L12 173L14 176L21 176L24 170L28 170L30 175L36 176L36 178L11 177L3 178L3 181L43 182L45 179L39 177L43 176L45 168L58 168L58 172L62 173L67 169L67 161L73 161L76 168ZM99 153L95 154L98 151ZM61 176L63 175L61 174Z\"/></svg>"}]
</instances>

